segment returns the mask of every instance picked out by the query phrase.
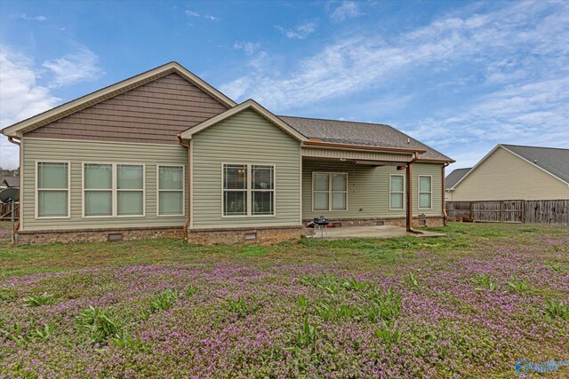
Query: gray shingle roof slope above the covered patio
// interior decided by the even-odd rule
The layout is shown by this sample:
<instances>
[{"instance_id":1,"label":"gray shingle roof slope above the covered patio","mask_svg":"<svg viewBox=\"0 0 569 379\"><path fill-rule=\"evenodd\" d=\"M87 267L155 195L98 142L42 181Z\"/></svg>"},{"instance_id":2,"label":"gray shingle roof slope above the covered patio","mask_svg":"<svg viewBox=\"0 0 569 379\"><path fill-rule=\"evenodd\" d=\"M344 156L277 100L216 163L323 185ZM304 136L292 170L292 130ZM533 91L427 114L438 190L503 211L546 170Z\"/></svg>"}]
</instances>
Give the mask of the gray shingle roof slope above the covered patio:
<instances>
[{"instance_id":1,"label":"gray shingle roof slope above the covered patio","mask_svg":"<svg viewBox=\"0 0 569 379\"><path fill-rule=\"evenodd\" d=\"M453 162L445 154L407 136L405 133L380 123L323 120L317 118L278 116L281 120L300 131L308 138L319 138L323 142L353 144L362 146L381 146L415 148L427 150L419 159L433 159ZM409 143L407 143L409 140Z\"/></svg>"}]
</instances>

